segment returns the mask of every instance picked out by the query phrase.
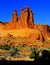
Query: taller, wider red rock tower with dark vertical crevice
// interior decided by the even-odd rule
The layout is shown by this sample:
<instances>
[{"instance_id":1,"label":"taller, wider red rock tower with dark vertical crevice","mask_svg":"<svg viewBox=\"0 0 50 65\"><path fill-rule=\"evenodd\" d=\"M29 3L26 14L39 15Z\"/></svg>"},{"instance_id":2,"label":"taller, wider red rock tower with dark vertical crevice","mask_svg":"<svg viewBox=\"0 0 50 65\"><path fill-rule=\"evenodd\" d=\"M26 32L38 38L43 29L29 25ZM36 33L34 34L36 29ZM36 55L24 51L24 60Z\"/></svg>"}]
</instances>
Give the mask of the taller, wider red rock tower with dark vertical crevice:
<instances>
[{"instance_id":1,"label":"taller, wider red rock tower with dark vertical crevice","mask_svg":"<svg viewBox=\"0 0 50 65\"><path fill-rule=\"evenodd\" d=\"M24 9L20 10L20 17L19 17L19 25L22 26L22 28L33 28L33 14L32 11L25 7Z\"/></svg>"}]
</instances>

